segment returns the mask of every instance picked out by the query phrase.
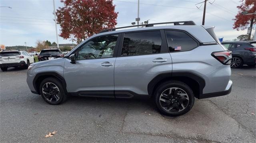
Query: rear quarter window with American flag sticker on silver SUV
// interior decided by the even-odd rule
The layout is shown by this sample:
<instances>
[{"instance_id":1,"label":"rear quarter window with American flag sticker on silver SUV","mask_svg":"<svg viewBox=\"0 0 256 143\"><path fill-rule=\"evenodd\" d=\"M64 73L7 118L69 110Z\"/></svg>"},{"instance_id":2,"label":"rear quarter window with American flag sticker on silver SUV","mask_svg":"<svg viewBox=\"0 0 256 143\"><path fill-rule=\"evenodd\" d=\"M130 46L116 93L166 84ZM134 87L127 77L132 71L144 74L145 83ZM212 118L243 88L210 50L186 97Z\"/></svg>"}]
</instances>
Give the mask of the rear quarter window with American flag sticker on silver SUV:
<instances>
[{"instance_id":1,"label":"rear quarter window with American flag sticker on silver SUV","mask_svg":"<svg viewBox=\"0 0 256 143\"><path fill-rule=\"evenodd\" d=\"M170 52L190 51L198 47L198 43L185 32L173 30L165 32Z\"/></svg>"}]
</instances>

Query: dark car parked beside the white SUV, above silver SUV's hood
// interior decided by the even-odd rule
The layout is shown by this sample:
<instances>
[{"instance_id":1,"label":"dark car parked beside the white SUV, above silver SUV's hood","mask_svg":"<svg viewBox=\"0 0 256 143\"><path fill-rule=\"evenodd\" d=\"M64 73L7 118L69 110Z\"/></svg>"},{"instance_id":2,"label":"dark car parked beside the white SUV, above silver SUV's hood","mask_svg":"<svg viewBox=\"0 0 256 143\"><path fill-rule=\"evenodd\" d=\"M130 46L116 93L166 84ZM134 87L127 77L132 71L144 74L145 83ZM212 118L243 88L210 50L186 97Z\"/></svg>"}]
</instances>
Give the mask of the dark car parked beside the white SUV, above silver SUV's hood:
<instances>
[{"instance_id":1,"label":"dark car parked beside the white SUV, above silver SUV's hood","mask_svg":"<svg viewBox=\"0 0 256 143\"><path fill-rule=\"evenodd\" d=\"M43 49L38 55L38 61L52 60L64 57L60 49Z\"/></svg>"}]
</instances>

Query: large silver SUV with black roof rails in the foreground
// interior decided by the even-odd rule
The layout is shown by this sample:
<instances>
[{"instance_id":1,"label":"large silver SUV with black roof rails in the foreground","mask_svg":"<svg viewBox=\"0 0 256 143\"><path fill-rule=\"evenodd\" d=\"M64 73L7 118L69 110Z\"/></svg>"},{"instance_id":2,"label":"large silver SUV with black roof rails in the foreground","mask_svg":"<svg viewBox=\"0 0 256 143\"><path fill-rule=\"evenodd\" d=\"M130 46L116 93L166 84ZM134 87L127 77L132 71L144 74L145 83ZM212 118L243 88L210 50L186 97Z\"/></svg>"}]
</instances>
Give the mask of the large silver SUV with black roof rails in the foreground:
<instances>
[{"instance_id":1,"label":"large silver SUV with black roof rails in the foreground","mask_svg":"<svg viewBox=\"0 0 256 143\"><path fill-rule=\"evenodd\" d=\"M192 21L158 24L104 30L63 58L33 63L28 86L54 105L69 95L151 97L170 116L188 112L194 98L231 92L231 51L220 44L214 27Z\"/></svg>"}]
</instances>

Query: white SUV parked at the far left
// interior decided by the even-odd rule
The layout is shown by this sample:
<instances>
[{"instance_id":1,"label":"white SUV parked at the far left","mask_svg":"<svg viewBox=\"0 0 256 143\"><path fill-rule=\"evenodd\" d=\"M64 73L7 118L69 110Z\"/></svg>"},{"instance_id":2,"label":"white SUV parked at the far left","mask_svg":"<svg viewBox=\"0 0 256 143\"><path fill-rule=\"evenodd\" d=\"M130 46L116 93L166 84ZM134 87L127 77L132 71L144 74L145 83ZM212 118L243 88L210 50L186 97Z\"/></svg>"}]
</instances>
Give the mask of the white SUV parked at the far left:
<instances>
[{"instance_id":1,"label":"white SUV parked at the far left","mask_svg":"<svg viewBox=\"0 0 256 143\"><path fill-rule=\"evenodd\" d=\"M0 53L0 68L2 71L7 71L8 67L28 68L30 63L35 63L35 60L26 51L2 51Z\"/></svg>"}]
</instances>

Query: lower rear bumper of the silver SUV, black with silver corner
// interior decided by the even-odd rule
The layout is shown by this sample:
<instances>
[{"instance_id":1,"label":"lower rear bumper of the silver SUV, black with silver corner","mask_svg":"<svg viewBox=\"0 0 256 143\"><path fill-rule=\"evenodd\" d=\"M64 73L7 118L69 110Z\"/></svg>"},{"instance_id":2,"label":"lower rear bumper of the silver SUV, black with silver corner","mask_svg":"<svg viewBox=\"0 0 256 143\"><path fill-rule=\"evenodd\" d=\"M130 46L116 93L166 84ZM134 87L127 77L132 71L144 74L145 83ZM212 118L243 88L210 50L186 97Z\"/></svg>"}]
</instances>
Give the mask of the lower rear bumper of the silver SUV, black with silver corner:
<instances>
[{"instance_id":1,"label":"lower rear bumper of the silver SUV, black with silver corner","mask_svg":"<svg viewBox=\"0 0 256 143\"><path fill-rule=\"evenodd\" d=\"M200 95L199 99L224 96L224 95L230 94L230 92L232 90L232 84L233 84L232 80L229 80L228 85L226 86L226 89L224 91L202 94L202 95Z\"/></svg>"}]
</instances>

